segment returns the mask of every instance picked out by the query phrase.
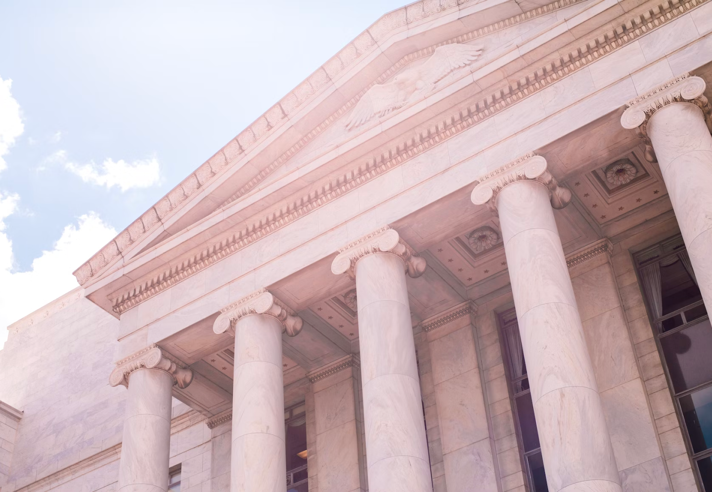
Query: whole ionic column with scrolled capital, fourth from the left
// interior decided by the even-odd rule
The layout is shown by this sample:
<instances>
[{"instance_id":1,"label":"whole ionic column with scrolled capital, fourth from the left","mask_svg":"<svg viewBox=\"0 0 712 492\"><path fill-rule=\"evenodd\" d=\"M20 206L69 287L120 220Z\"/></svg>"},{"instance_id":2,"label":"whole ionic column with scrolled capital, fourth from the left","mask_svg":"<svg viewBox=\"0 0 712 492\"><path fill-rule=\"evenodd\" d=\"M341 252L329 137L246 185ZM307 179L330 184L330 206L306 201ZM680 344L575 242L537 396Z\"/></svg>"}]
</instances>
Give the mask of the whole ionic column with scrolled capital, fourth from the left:
<instances>
[{"instance_id":1,"label":"whole ionic column with scrolled capital, fourth from the left","mask_svg":"<svg viewBox=\"0 0 712 492\"><path fill-rule=\"evenodd\" d=\"M621 492L552 205L571 193L527 154L481 178L499 214L544 468L551 492Z\"/></svg>"}]
</instances>

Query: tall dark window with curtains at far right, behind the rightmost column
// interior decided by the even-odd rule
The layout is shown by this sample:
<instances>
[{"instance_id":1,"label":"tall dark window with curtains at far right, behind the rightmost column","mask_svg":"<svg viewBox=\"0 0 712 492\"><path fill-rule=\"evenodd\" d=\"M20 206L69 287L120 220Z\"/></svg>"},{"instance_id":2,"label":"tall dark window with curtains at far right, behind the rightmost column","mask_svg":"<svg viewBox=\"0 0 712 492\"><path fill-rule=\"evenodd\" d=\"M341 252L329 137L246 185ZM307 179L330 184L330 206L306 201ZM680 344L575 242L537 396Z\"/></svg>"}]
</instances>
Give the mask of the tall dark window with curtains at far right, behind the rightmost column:
<instances>
[{"instance_id":1,"label":"tall dark window with curtains at far right, behind the rightmost column","mask_svg":"<svg viewBox=\"0 0 712 492\"><path fill-rule=\"evenodd\" d=\"M712 326L695 272L679 236L635 260L687 449L703 489L712 492Z\"/></svg>"}]
</instances>

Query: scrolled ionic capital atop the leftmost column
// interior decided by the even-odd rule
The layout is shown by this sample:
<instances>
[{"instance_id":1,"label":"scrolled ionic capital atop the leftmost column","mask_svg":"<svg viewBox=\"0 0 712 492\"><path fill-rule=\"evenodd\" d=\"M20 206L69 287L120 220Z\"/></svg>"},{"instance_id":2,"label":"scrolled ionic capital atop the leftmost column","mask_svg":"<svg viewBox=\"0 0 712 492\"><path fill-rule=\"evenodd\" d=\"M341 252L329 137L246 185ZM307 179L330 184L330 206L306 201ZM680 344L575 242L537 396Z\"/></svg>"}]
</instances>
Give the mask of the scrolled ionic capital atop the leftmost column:
<instances>
[{"instance_id":1,"label":"scrolled ionic capital atop the leftmost column","mask_svg":"<svg viewBox=\"0 0 712 492\"><path fill-rule=\"evenodd\" d=\"M152 343L137 353L119 360L109 376L109 384L128 387L129 375L137 369L163 370L172 376L174 384L180 388L187 387L193 380L193 371L187 365Z\"/></svg>"}]
</instances>

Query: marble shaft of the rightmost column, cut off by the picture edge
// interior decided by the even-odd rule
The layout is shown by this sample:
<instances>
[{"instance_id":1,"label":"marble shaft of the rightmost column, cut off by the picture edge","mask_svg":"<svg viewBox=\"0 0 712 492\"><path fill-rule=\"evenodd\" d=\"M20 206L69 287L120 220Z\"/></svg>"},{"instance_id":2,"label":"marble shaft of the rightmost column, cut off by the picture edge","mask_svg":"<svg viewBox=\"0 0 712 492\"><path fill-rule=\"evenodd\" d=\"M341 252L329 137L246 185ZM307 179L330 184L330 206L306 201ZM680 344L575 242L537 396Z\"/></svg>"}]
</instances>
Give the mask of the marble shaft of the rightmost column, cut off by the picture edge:
<instances>
[{"instance_id":1,"label":"marble shaft of the rightmost column, cut off by the picture edge","mask_svg":"<svg viewBox=\"0 0 712 492\"><path fill-rule=\"evenodd\" d=\"M712 137L689 102L658 109L647 127L707 309L712 309Z\"/></svg>"}]
</instances>

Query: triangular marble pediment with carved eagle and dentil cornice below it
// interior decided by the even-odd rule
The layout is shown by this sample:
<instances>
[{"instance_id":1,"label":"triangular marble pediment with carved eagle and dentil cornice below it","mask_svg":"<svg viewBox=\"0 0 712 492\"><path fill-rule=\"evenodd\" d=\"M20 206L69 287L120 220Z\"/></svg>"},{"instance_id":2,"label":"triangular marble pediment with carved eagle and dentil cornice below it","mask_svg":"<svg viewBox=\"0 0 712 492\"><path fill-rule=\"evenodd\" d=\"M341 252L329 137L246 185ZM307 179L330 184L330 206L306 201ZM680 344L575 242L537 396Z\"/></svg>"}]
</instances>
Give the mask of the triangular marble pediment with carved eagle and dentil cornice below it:
<instances>
[{"instance_id":1,"label":"triangular marble pediment with carved eagle and dentil cornice below it","mask_svg":"<svg viewBox=\"0 0 712 492\"><path fill-rule=\"evenodd\" d=\"M560 0L526 12L511 0L472 2L467 8L415 16L412 22L408 16L404 22L388 21L390 31L372 26L75 276L89 289L90 299L105 309L114 314L130 309L650 29L631 13L621 24L632 28L601 31L610 26L608 10L619 9L617 2L604 3L595 2L595 11L577 18L590 1ZM673 12L672 18L681 13ZM661 22L667 14L661 9ZM516 36L506 38L511 33ZM590 33L598 37L591 41ZM578 36L574 41L572 34ZM364 39L372 43L363 44ZM448 59L443 77L410 77L404 89L397 87L399 75L421 75L423 67L437 60L439 49L452 46L471 50L470 59ZM557 50L570 54L554 59L550 53ZM345 53L357 56L345 58ZM390 100L397 107L355 120L364 97L372 98L377 86L402 91ZM345 100L345 95L351 98Z\"/></svg>"}]
</instances>

